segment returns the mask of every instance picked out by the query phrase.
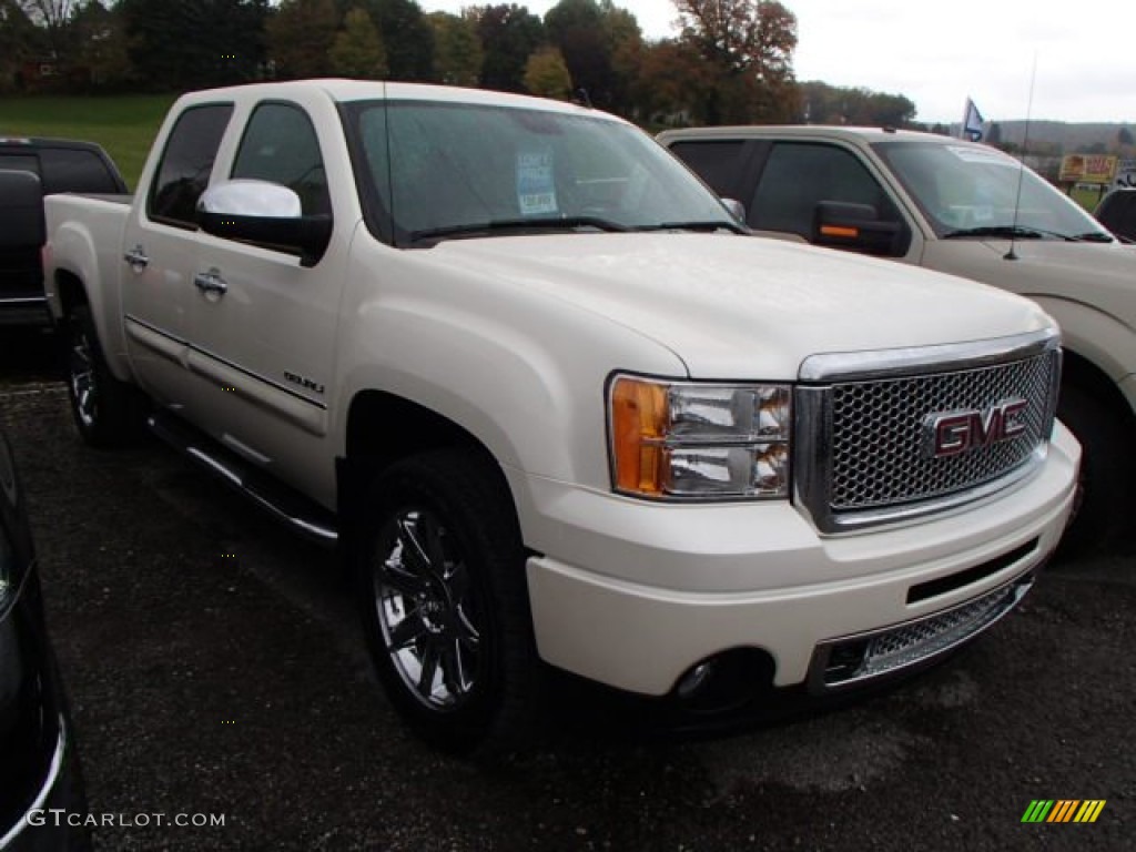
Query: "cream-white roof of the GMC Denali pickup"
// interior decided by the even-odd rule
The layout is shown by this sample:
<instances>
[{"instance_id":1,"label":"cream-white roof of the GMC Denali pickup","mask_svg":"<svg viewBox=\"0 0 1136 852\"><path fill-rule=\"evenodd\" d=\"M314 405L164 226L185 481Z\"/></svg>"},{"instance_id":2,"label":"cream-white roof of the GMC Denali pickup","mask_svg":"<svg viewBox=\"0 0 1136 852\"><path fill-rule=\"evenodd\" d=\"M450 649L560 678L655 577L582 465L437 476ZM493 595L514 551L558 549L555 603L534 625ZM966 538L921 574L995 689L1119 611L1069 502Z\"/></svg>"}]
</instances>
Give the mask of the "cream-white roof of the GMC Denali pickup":
<instances>
[{"instance_id":1,"label":"cream-white roof of the GMC Denali pickup","mask_svg":"<svg viewBox=\"0 0 1136 852\"><path fill-rule=\"evenodd\" d=\"M538 109L552 112L578 114L623 122L621 118L590 109L575 103L554 101L545 98L534 98L525 94L492 92L483 89L463 89L459 86L441 86L424 83L389 83L385 81L362 80L299 80L283 83L253 83L249 85L210 89L191 92L178 99L178 106L203 101L215 101L218 98L233 100L260 100L270 97L287 97L290 92L320 91L327 98L337 102L364 100L415 100L438 101L449 103L476 103L491 107L513 107L517 109Z\"/></svg>"}]
</instances>

